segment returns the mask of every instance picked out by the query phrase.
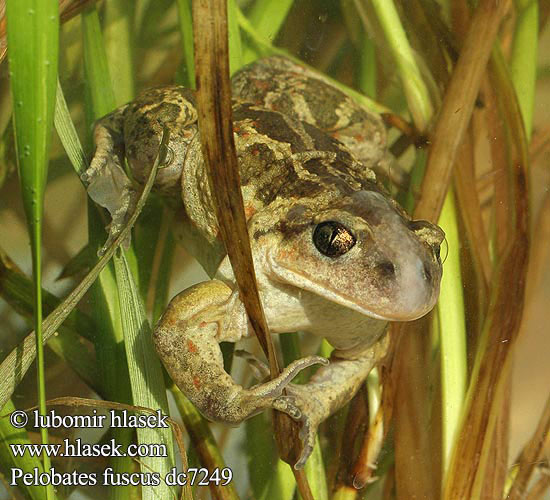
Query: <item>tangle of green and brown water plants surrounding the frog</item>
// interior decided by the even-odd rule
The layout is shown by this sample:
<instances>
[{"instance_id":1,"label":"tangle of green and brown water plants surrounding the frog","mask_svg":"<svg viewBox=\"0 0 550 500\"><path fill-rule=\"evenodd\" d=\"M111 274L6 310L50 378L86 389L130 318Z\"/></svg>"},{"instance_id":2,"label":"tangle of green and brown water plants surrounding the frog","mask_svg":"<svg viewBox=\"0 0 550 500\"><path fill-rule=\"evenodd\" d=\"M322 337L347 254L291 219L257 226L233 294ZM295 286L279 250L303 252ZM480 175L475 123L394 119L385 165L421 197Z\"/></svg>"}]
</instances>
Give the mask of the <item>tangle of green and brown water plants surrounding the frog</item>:
<instances>
[{"instance_id":1,"label":"tangle of green and brown water plants surrounding the frog","mask_svg":"<svg viewBox=\"0 0 550 500\"><path fill-rule=\"evenodd\" d=\"M161 409L173 419L169 429L82 435L52 429L48 436L32 421L15 429L2 418L0 470L11 497L63 499L75 489L117 500L180 494L291 500L298 490L316 500L542 497L550 486L550 476L541 473L548 465L542 449L549 404L533 435L521 436L519 457L509 450L514 347L524 303L544 292L537 276L550 237L550 200L542 188L548 171L539 166L548 155L549 122L535 113L548 79L538 54L539 42L549 43L550 5L474 3L227 1L231 72L285 54L383 112L398 160L383 179L386 187L416 218L437 221L447 235L437 309L392 325L390 355L322 426L305 468L307 486L297 488L291 468L277 458L269 415L239 429L214 426L163 373L151 328L170 296L196 281L187 271L197 266L176 242L171 211L149 195L152 176L130 247L117 250L122 234L101 258L106 217L86 200L79 180L96 119L143 89L195 86L191 0L60 0L59 10L54 2L6 0L7 36L5 18L0 22L0 57L6 41L9 47L0 80L1 414L38 405L43 414ZM0 15L4 11L0 2ZM42 336L44 352L36 348ZM301 355L298 335L281 335L276 347L285 365ZM31 364L35 353L38 362ZM321 354L329 353L323 344ZM225 354L231 366L232 353ZM242 365L234 365L235 377L249 383ZM163 443L168 453L50 463L16 457L9 446L77 435L90 443ZM220 476L210 488L187 486L181 493L164 481L8 484L13 468L76 469L101 478L109 467L113 474L165 477L175 466L229 467L233 480L222 486L226 477Z\"/></svg>"}]
</instances>

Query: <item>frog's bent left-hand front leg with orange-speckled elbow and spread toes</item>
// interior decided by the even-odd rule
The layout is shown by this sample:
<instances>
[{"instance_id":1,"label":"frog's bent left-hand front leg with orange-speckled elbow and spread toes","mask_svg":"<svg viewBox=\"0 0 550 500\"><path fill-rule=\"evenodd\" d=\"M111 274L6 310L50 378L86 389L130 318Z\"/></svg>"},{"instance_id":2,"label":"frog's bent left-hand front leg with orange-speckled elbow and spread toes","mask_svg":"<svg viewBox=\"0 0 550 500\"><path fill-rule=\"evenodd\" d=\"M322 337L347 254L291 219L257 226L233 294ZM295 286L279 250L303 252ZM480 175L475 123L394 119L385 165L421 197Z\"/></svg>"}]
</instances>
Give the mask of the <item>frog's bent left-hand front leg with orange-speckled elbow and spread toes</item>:
<instances>
[{"instance_id":1,"label":"frog's bent left-hand front leg with orange-speckled elbow and spread toes","mask_svg":"<svg viewBox=\"0 0 550 500\"><path fill-rule=\"evenodd\" d=\"M283 389L302 369L326 359L310 356L287 366L274 380L245 389L223 368L219 342L247 332L244 307L236 292L217 280L195 285L170 302L155 333L155 347L176 385L210 420L238 424L273 408L302 417Z\"/></svg>"}]
</instances>

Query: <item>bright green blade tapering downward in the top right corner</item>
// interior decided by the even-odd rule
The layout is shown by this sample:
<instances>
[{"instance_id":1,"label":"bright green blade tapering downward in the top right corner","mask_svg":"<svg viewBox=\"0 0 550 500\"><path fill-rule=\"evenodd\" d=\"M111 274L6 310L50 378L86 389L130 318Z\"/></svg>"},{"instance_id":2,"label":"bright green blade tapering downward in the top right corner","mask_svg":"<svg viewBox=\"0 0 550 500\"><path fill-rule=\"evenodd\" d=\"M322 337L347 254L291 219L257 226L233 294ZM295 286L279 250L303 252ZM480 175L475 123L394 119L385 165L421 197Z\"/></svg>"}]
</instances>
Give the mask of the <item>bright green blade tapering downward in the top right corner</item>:
<instances>
[{"instance_id":1,"label":"bright green blade tapering downward in the top right corner","mask_svg":"<svg viewBox=\"0 0 550 500\"><path fill-rule=\"evenodd\" d=\"M533 130L535 110L539 5L537 0L516 0L516 8L518 13L510 58L510 73L518 96L527 140L529 140Z\"/></svg>"}]
</instances>

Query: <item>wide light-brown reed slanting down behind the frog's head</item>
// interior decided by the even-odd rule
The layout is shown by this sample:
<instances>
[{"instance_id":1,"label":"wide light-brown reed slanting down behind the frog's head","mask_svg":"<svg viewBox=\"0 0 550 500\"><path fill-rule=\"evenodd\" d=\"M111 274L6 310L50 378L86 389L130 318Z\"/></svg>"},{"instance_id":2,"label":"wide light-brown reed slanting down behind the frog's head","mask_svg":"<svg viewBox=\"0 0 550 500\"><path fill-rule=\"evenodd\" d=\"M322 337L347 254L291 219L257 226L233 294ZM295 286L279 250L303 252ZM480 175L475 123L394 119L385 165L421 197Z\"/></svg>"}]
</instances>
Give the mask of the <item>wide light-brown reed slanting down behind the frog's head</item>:
<instances>
[{"instance_id":1,"label":"wide light-brown reed slanting down behind the frog's head","mask_svg":"<svg viewBox=\"0 0 550 500\"><path fill-rule=\"evenodd\" d=\"M509 1L506 0L485 0L480 3L473 15L432 136L433 142L428 154L420 198L414 211L415 218L437 220L439 217L452 167L470 122L481 78L508 5ZM401 336L397 363L394 366L397 369L395 377L398 381L395 399L397 492L403 498L437 498L439 488L434 481L435 464L429 462L432 455L430 437L422 430L427 424L427 417L422 408L426 407L428 400L426 391L422 391L423 394L419 391L423 383L419 379L421 369L418 358L423 346L422 342L414 340L415 336L421 337L420 332L416 333L415 335L414 332L407 332L407 335ZM399 383L400 380L406 383ZM411 384L414 390L410 390ZM405 387L409 389L405 390ZM407 440L405 433L409 432L411 435ZM422 452L427 453L427 456ZM469 496L459 494L452 498Z\"/></svg>"}]
</instances>

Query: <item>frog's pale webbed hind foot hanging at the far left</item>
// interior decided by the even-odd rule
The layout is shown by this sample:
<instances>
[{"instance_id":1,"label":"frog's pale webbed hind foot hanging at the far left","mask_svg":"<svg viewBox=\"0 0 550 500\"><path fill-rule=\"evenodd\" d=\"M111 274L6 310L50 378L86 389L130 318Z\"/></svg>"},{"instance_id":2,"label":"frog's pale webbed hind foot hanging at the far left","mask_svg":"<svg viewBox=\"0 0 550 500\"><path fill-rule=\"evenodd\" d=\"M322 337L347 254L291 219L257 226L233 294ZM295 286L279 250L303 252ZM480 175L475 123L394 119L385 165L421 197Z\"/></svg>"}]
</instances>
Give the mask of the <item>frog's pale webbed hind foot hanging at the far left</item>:
<instances>
[{"instance_id":1,"label":"frog's pale webbed hind foot hanging at the far left","mask_svg":"<svg viewBox=\"0 0 550 500\"><path fill-rule=\"evenodd\" d=\"M109 238L104 249L122 230L137 200L136 191L123 168L125 108L123 106L113 111L95 124L95 154L81 176L90 198L111 214Z\"/></svg>"}]
</instances>

